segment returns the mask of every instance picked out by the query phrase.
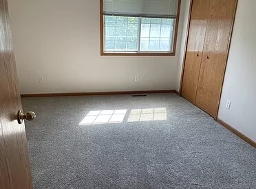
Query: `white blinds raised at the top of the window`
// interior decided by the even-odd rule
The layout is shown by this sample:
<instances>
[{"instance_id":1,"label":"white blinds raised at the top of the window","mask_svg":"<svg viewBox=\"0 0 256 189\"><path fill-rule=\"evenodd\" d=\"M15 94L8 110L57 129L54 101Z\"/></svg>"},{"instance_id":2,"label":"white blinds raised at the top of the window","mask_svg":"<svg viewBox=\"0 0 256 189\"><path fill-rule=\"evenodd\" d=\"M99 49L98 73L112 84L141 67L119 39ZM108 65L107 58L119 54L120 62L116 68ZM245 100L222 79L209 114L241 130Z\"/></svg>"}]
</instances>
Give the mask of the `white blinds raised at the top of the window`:
<instances>
[{"instance_id":1,"label":"white blinds raised at the top of the window","mask_svg":"<svg viewBox=\"0 0 256 189\"><path fill-rule=\"evenodd\" d=\"M178 0L103 0L103 14L176 18Z\"/></svg>"}]
</instances>

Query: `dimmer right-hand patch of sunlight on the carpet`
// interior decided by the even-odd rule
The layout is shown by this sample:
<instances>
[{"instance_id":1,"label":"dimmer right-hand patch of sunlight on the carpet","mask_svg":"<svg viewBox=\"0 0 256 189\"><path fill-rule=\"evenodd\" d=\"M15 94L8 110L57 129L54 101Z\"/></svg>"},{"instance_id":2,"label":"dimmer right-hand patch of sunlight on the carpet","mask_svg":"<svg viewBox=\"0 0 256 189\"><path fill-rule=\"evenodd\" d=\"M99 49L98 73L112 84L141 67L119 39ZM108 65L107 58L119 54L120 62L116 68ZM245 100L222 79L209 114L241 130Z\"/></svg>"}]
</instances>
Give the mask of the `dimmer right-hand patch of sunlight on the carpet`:
<instances>
[{"instance_id":1,"label":"dimmer right-hand patch of sunlight on the carpet","mask_svg":"<svg viewBox=\"0 0 256 189\"><path fill-rule=\"evenodd\" d=\"M128 118L128 122L163 120L167 120L166 108L133 109Z\"/></svg>"}]
</instances>

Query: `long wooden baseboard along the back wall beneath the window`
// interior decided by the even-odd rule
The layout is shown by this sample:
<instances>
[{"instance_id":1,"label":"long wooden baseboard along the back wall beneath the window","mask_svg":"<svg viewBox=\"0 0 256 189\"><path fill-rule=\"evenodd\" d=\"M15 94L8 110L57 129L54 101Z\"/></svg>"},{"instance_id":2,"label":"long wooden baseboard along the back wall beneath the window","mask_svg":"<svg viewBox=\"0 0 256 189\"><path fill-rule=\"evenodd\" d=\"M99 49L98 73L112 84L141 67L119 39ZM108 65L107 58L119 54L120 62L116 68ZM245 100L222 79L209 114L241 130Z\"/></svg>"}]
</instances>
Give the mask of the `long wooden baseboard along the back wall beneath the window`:
<instances>
[{"instance_id":1,"label":"long wooden baseboard along the back wall beneath the window","mask_svg":"<svg viewBox=\"0 0 256 189\"><path fill-rule=\"evenodd\" d=\"M116 92L70 92L70 93L42 93L42 94L23 94L21 97L67 97L67 96L86 96L86 95L130 95L130 94L149 94L149 93L169 93L176 90L138 90L138 91L116 91Z\"/></svg>"}]
</instances>

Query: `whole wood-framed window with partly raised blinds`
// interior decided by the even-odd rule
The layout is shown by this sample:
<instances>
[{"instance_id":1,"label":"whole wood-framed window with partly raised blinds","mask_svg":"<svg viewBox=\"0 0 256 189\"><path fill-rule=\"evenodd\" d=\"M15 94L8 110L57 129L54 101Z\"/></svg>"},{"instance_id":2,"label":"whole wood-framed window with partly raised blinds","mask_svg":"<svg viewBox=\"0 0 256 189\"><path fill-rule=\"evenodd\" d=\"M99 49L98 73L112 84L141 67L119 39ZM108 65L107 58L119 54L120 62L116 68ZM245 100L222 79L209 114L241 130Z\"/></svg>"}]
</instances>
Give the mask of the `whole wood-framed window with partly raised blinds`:
<instances>
[{"instance_id":1,"label":"whole wood-framed window with partly raised blinds","mask_svg":"<svg viewBox=\"0 0 256 189\"><path fill-rule=\"evenodd\" d=\"M102 55L175 55L180 0L101 0Z\"/></svg>"}]
</instances>

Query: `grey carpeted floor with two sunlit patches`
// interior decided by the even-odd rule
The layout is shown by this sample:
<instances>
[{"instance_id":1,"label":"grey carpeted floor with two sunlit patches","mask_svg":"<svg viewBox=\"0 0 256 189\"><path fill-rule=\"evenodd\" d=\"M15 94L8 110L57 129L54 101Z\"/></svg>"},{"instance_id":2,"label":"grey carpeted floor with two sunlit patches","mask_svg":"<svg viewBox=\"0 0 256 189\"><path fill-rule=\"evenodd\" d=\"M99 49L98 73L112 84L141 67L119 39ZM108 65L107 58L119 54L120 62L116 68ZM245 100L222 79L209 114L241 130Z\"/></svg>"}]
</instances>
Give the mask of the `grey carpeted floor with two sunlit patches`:
<instances>
[{"instance_id":1,"label":"grey carpeted floor with two sunlit patches","mask_svg":"<svg viewBox=\"0 0 256 189\"><path fill-rule=\"evenodd\" d=\"M178 95L22 102L34 188L256 188L256 149Z\"/></svg>"}]
</instances>

